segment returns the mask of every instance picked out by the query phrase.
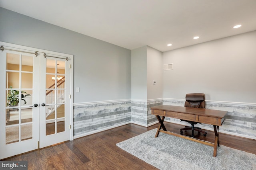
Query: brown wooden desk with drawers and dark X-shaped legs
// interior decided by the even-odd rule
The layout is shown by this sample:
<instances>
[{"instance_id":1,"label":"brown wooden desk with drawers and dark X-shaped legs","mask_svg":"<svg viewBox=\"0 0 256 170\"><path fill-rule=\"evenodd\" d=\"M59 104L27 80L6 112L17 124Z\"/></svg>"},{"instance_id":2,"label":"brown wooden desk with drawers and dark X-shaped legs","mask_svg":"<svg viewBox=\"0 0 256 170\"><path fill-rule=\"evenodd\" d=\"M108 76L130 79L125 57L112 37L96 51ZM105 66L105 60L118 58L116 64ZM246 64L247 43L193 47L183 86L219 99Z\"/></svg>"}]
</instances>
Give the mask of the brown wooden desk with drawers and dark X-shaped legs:
<instances>
[{"instance_id":1,"label":"brown wooden desk with drawers and dark X-shaped legs","mask_svg":"<svg viewBox=\"0 0 256 170\"><path fill-rule=\"evenodd\" d=\"M209 145L214 147L213 156L216 157L217 154L217 145L220 146L219 142L219 126L222 125L223 121L225 120L225 115L227 111L220 111L220 110L212 110L212 109L198 109L192 107L182 107L182 106L168 106L168 105L161 105L156 107L150 107L151 113L156 115L160 125L156 132L155 137L158 137L159 132L168 133L170 135L174 135L177 137L182 137L184 139L189 139L191 141L196 141L205 145ZM162 119L160 118L162 116ZM200 123L210 124L213 125L214 133L215 133L215 141L214 143L210 143L207 141L202 141L200 139L188 137L185 135L180 135L178 133L169 132L166 130L164 126L164 118L165 117L173 117L176 119L184 119L189 121L196 121ZM217 128L216 128L217 126ZM161 130L161 128L163 130Z\"/></svg>"}]
</instances>

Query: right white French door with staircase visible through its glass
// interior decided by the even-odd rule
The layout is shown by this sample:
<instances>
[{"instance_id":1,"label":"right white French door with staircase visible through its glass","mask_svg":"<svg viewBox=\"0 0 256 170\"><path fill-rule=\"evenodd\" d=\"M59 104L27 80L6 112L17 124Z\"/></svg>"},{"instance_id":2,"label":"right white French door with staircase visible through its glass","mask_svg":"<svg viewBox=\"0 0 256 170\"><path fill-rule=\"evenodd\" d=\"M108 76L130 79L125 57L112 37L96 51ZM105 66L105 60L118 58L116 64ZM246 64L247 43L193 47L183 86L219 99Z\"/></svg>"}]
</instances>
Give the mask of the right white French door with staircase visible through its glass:
<instances>
[{"instance_id":1,"label":"right white French door with staircase visible through its glass","mask_svg":"<svg viewBox=\"0 0 256 170\"><path fill-rule=\"evenodd\" d=\"M41 58L40 148L70 139L70 60Z\"/></svg>"}]
</instances>

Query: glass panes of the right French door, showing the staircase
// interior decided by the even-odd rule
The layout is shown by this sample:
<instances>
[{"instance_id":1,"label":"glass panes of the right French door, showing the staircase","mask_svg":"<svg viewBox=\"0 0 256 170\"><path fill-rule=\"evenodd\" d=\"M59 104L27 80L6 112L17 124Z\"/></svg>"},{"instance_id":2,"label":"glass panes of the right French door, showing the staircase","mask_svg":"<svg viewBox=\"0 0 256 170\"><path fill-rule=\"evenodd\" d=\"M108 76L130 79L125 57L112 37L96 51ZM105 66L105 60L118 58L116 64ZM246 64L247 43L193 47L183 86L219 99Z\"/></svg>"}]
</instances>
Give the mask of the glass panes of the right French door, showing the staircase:
<instances>
[{"instance_id":1,"label":"glass panes of the right French door, showing the staircase","mask_svg":"<svg viewBox=\"0 0 256 170\"><path fill-rule=\"evenodd\" d=\"M65 131L65 61L46 59L46 135Z\"/></svg>"}]
</instances>

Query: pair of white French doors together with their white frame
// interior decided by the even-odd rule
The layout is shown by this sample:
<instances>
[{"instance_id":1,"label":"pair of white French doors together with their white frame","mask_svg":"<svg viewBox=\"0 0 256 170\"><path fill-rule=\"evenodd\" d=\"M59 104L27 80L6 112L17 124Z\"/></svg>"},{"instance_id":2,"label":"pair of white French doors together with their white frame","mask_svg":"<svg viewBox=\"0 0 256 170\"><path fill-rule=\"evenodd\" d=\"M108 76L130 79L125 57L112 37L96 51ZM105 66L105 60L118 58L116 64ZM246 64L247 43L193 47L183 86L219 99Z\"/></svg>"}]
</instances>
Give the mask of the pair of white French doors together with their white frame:
<instances>
[{"instance_id":1,"label":"pair of white French doors together with their white frame","mask_svg":"<svg viewBox=\"0 0 256 170\"><path fill-rule=\"evenodd\" d=\"M0 45L0 159L72 140L72 55Z\"/></svg>"}]
</instances>

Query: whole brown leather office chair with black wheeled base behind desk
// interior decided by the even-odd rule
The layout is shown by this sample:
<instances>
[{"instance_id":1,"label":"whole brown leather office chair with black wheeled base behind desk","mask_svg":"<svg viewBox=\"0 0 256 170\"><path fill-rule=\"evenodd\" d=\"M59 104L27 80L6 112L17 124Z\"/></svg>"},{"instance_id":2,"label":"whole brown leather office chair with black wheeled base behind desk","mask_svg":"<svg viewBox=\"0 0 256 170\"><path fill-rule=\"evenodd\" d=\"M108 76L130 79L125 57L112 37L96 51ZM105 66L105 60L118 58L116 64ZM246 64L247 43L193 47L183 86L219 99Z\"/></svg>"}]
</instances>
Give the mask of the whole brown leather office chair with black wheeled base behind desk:
<instances>
[{"instance_id":1,"label":"whole brown leather office chair with black wheeled base behind desk","mask_svg":"<svg viewBox=\"0 0 256 170\"><path fill-rule=\"evenodd\" d=\"M185 107L195 107L195 108L205 108L205 101L204 101L204 94L203 93L191 93L186 94L186 102ZM192 130L192 137L194 137L194 131L202 132L204 133L204 136L206 136L206 132L202 131L200 127L194 127L198 122L194 121L187 121L180 119L180 121L186 121L191 124L191 127L185 126L185 128L180 129L180 134L182 135L183 131L185 130ZM200 123L202 125L202 123Z\"/></svg>"}]
</instances>

